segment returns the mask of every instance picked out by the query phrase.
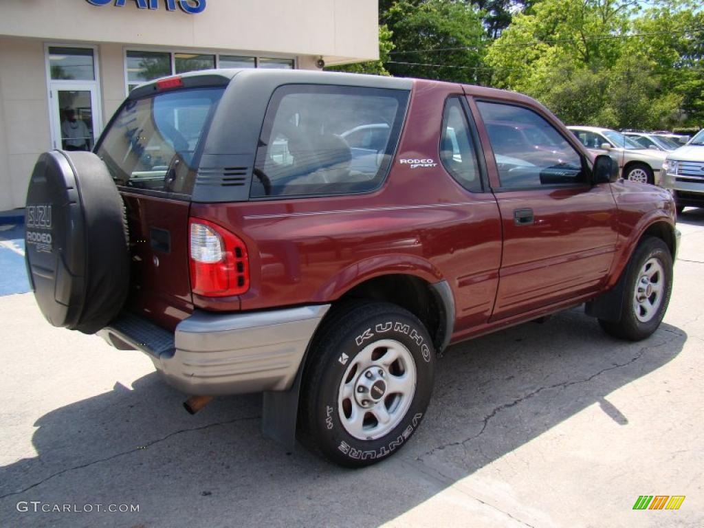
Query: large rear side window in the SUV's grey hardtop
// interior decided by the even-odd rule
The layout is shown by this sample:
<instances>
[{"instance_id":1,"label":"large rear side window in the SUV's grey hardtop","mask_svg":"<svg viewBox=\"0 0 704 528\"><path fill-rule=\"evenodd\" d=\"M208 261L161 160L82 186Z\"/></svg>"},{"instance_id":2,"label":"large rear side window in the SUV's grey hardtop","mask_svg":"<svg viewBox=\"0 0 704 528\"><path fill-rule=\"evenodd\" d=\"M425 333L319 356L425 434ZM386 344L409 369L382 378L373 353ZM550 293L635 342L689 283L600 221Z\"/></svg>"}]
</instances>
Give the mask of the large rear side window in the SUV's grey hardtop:
<instances>
[{"instance_id":1,"label":"large rear side window in the SUV's grey hardtop","mask_svg":"<svg viewBox=\"0 0 704 528\"><path fill-rule=\"evenodd\" d=\"M379 187L389 170L408 92L287 85L272 96L252 198L345 194Z\"/></svg>"}]
</instances>

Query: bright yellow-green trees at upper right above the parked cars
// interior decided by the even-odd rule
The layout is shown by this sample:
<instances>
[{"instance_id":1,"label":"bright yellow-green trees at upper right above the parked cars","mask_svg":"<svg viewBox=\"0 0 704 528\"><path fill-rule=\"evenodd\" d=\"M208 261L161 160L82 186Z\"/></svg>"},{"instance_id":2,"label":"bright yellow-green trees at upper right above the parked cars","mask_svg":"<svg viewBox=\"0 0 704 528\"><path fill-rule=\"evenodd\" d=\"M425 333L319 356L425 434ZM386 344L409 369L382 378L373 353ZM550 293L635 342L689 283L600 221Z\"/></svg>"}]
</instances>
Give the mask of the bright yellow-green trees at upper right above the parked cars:
<instances>
[{"instance_id":1,"label":"bright yellow-green trees at upper right above the parked cars","mask_svg":"<svg viewBox=\"0 0 704 528\"><path fill-rule=\"evenodd\" d=\"M704 121L701 7L670 0L541 0L491 44L492 84L565 122L624 128ZM633 35L620 38L620 35Z\"/></svg>"}]
</instances>

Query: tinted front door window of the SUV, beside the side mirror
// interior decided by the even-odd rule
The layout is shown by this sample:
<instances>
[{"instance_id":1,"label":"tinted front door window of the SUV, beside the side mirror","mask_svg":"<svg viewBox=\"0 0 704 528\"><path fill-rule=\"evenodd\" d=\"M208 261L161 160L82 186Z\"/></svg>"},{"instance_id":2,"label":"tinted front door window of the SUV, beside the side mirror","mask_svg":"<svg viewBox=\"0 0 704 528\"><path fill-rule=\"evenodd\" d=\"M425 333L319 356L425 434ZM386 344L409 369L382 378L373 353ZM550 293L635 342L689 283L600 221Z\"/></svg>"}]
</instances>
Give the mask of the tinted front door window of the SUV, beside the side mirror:
<instances>
[{"instance_id":1,"label":"tinted front door window of the SUV, beside the side mirror","mask_svg":"<svg viewBox=\"0 0 704 528\"><path fill-rule=\"evenodd\" d=\"M478 101L502 188L583 184L582 156L553 125L522 106Z\"/></svg>"}]
</instances>

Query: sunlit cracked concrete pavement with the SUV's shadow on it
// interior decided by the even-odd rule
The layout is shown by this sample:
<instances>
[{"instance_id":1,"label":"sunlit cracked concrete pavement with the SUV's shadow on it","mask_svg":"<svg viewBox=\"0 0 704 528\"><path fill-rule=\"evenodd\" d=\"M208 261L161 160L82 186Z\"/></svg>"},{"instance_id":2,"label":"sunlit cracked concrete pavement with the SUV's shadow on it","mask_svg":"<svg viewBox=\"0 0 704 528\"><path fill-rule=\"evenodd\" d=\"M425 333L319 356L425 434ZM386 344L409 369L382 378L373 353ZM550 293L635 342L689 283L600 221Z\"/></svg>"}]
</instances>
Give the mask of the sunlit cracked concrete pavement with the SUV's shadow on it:
<instances>
[{"instance_id":1,"label":"sunlit cracked concrete pavement with the SUV's shadow on it","mask_svg":"<svg viewBox=\"0 0 704 528\"><path fill-rule=\"evenodd\" d=\"M702 527L704 210L679 229L650 339L575 308L454 346L412 441L356 471L264 439L259 396L190 416L142 353L49 326L0 232L0 526Z\"/></svg>"}]
</instances>

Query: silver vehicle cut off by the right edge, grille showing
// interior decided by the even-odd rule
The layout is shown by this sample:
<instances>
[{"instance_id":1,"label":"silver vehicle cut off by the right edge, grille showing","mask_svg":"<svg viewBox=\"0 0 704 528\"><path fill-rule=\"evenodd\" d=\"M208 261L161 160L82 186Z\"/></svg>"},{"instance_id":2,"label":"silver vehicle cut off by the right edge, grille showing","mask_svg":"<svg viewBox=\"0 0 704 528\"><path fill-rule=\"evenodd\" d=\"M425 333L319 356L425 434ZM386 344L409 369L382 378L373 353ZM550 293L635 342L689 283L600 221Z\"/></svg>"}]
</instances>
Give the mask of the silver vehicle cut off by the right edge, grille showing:
<instances>
[{"instance_id":1,"label":"silver vehicle cut off by the right edge, grille showing","mask_svg":"<svg viewBox=\"0 0 704 528\"><path fill-rule=\"evenodd\" d=\"M672 189L677 210L704 207L704 129L685 146L667 155L662 165L663 187Z\"/></svg>"}]
</instances>

